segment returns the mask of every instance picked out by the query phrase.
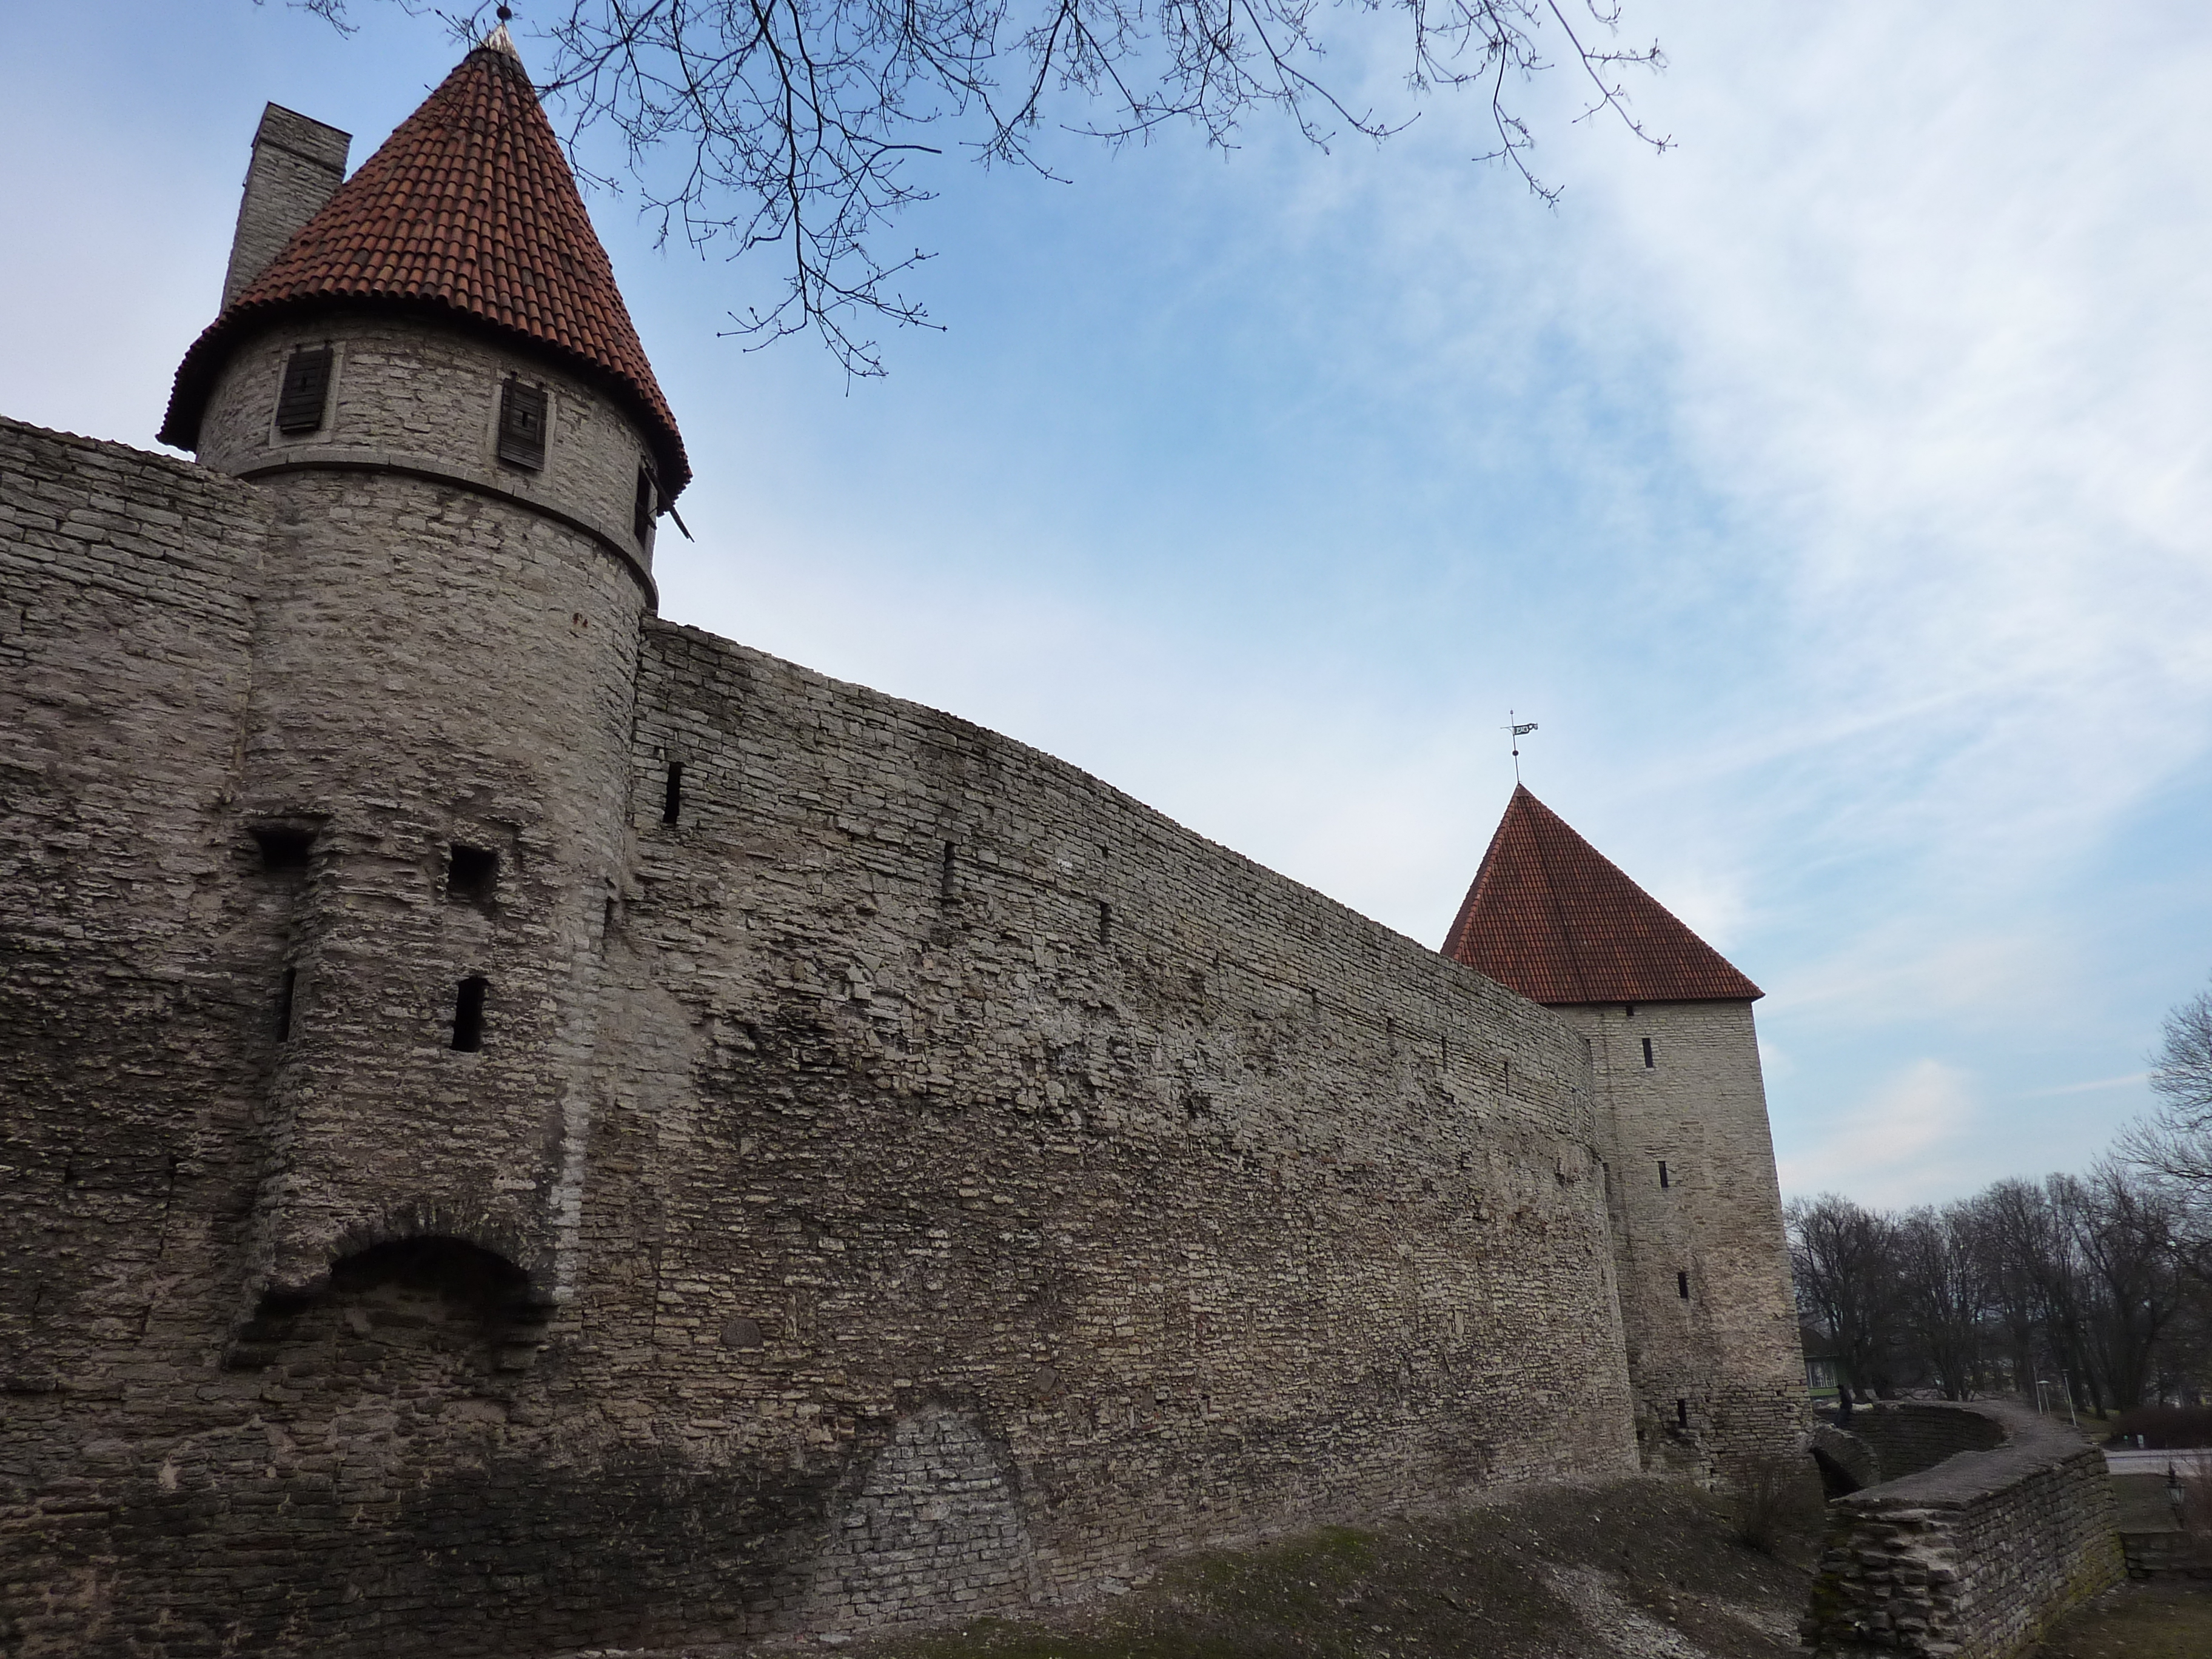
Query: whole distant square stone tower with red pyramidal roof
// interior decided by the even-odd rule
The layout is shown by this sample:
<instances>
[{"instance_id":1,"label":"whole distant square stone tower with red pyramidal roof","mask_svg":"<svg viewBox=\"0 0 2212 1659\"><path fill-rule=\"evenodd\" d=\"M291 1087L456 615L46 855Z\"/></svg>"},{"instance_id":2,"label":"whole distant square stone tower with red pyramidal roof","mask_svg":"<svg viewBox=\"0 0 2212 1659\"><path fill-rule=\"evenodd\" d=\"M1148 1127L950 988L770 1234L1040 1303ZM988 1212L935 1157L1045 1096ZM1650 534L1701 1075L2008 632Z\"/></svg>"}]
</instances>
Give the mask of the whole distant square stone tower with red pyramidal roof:
<instances>
[{"instance_id":1,"label":"whole distant square stone tower with red pyramidal roof","mask_svg":"<svg viewBox=\"0 0 2212 1659\"><path fill-rule=\"evenodd\" d=\"M1637 1444L1717 1473L1805 1413L1763 991L1515 785L1444 956L1584 1035L1597 1082Z\"/></svg>"}]
</instances>

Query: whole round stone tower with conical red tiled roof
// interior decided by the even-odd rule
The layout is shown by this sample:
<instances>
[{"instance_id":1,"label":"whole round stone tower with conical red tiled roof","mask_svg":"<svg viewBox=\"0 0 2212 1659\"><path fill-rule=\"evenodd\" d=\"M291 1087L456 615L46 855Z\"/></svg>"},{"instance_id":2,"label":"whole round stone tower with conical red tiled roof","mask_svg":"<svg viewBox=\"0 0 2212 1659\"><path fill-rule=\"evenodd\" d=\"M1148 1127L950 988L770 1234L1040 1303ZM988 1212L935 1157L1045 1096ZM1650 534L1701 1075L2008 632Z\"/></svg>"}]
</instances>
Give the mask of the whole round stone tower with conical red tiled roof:
<instances>
[{"instance_id":1,"label":"whole round stone tower with conical red tiled roof","mask_svg":"<svg viewBox=\"0 0 2212 1659\"><path fill-rule=\"evenodd\" d=\"M250 1292L429 1237L544 1303L681 438L504 29L321 208L261 173L241 248L303 223L234 259L161 431L276 498L232 803L290 896Z\"/></svg>"}]
</instances>

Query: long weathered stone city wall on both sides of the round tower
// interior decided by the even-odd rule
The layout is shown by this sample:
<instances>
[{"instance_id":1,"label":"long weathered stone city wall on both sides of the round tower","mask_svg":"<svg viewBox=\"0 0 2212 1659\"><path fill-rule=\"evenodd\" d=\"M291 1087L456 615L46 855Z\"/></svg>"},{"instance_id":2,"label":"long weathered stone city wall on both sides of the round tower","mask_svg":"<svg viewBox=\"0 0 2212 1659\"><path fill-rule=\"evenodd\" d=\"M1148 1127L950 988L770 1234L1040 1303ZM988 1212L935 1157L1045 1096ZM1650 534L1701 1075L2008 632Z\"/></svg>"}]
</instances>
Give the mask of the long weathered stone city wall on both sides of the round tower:
<instances>
[{"instance_id":1,"label":"long weathered stone city wall on both sides of the round tower","mask_svg":"<svg viewBox=\"0 0 2212 1659\"><path fill-rule=\"evenodd\" d=\"M252 834L270 495L15 425L0 467L11 1659L902 1628L1632 1467L1559 1020L1035 750L666 624L582 896L597 1037L549 1044L535 1137L507 1093L345 1079L361 1203L422 1146L555 1245L380 1237L241 1327L296 916L363 940L301 1018L416 1044L392 987L447 969L369 920L440 867Z\"/></svg>"}]
</instances>

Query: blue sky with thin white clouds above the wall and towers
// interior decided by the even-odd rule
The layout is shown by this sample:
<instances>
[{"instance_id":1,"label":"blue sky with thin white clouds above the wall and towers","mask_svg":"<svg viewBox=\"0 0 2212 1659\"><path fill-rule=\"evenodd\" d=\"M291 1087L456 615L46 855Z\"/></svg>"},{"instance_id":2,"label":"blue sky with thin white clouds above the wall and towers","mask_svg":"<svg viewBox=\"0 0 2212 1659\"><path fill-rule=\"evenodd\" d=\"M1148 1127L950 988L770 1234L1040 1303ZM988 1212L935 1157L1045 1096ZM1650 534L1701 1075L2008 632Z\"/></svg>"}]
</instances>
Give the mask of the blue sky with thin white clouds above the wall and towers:
<instances>
[{"instance_id":1,"label":"blue sky with thin white clouds above the wall and towers","mask_svg":"<svg viewBox=\"0 0 2212 1659\"><path fill-rule=\"evenodd\" d=\"M524 55L529 9L522 9ZM150 445L263 100L365 157L363 0L0 0L0 409ZM1531 91L947 159L885 383L591 199L699 478L666 615L995 726L1422 942L1511 787L1767 989L1785 1190L2093 1159L2212 969L2212 13L1628 0L1644 153ZM1398 93L1383 35L1352 86ZM1363 58L1363 46L1367 55Z\"/></svg>"}]
</instances>

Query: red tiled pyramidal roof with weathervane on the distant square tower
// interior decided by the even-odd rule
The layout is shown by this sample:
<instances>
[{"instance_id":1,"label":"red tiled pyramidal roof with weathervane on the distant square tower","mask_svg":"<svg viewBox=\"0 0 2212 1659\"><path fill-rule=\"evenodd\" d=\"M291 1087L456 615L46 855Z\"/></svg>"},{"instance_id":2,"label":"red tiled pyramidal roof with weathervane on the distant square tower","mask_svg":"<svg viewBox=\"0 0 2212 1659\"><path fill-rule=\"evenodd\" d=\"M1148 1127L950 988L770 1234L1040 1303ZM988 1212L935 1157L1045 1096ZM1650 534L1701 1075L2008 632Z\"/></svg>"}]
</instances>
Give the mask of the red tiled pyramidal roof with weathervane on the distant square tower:
<instances>
[{"instance_id":1,"label":"red tiled pyramidal roof with weathervane on the distant square tower","mask_svg":"<svg viewBox=\"0 0 2212 1659\"><path fill-rule=\"evenodd\" d=\"M1765 995L1522 785L1444 956L1553 1006Z\"/></svg>"}]
</instances>

